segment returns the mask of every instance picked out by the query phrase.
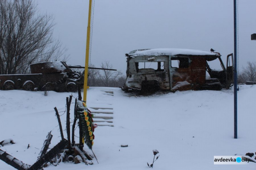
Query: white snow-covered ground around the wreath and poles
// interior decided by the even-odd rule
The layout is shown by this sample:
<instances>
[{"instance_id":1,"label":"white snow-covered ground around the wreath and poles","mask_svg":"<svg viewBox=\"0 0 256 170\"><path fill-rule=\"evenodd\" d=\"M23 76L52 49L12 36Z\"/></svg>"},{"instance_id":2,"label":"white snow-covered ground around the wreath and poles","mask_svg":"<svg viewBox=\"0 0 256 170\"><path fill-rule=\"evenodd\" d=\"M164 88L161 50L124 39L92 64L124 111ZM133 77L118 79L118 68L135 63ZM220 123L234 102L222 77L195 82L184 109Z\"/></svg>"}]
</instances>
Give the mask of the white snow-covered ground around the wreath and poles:
<instances>
[{"instance_id":1,"label":"white snow-covered ground around the wreath and poles","mask_svg":"<svg viewBox=\"0 0 256 170\"><path fill-rule=\"evenodd\" d=\"M113 91L114 96L104 91ZM50 148L60 141L54 107L59 112L65 111L69 95L71 93L54 91L48 96L42 91L0 91L0 141L12 138L16 142L0 149L32 165L49 131L53 134ZM73 96L78 95L73 93ZM44 169L148 169L147 162L152 163L154 149L160 155L154 163L156 170L255 169L256 164L251 162L247 165L214 165L213 159L219 155L256 151L255 105L256 85L240 86L238 139L233 139L231 89L132 96L120 88L90 87L87 106L113 108L114 112L114 127L99 126L94 132L93 150L99 164L94 159L94 165L60 163L57 167L51 165ZM73 106L73 119L72 113ZM61 119L64 126L66 114ZM14 168L0 160L0 169Z\"/></svg>"}]
</instances>

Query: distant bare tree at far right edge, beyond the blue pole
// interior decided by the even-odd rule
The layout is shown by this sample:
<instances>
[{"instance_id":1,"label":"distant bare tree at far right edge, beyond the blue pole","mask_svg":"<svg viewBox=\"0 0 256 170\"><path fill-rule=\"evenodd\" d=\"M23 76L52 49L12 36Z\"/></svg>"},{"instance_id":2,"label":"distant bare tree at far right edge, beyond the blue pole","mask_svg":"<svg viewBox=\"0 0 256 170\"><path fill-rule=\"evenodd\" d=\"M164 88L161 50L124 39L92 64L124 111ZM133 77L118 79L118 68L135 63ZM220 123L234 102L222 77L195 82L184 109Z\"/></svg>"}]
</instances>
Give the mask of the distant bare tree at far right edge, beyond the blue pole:
<instances>
[{"instance_id":1,"label":"distant bare tree at far right edge, beyond the blue pole","mask_svg":"<svg viewBox=\"0 0 256 170\"><path fill-rule=\"evenodd\" d=\"M246 81L256 81L256 62L247 62L247 67L243 68L243 77Z\"/></svg>"}]
</instances>

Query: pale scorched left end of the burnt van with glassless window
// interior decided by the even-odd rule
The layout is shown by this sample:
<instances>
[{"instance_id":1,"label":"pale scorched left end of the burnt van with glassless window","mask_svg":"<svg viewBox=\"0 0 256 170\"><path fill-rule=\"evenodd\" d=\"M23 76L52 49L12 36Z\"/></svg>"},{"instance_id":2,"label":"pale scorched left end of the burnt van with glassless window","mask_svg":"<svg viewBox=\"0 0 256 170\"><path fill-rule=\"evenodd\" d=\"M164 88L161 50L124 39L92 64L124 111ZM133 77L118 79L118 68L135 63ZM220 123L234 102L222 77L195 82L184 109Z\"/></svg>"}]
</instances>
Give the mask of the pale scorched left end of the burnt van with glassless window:
<instances>
[{"instance_id":1,"label":"pale scorched left end of the burnt van with glassless window","mask_svg":"<svg viewBox=\"0 0 256 170\"><path fill-rule=\"evenodd\" d=\"M167 56L128 57L127 64L126 87L138 90L148 87L169 90Z\"/></svg>"}]
</instances>

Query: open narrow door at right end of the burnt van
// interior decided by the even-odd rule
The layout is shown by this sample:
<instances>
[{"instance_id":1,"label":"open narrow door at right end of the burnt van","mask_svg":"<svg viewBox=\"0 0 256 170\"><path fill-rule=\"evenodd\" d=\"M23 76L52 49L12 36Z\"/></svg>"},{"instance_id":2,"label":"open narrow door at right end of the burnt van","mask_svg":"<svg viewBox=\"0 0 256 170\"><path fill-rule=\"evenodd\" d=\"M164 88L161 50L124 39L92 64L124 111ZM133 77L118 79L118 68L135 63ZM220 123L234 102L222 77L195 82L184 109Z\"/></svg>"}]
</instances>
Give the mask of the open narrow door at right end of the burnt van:
<instances>
[{"instance_id":1,"label":"open narrow door at right end of the burnt van","mask_svg":"<svg viewBox=\"0 0 256 170\"><path fill-rule=\"evenodd\" d=\"M227 55L227 80L226 88L229 89L230 84L234 83L234 57L233 53Z\"/></svg>"}]
</instances>

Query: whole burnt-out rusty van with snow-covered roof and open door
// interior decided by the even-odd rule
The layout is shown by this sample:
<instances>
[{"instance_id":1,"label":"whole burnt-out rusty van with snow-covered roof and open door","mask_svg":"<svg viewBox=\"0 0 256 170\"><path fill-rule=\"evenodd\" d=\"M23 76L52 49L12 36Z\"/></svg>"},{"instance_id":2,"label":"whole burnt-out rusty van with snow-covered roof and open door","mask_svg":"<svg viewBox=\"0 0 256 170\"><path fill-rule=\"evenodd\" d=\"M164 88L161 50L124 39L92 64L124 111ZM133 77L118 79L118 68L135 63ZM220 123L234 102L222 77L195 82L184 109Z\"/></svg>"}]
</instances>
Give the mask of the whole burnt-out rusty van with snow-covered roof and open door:
<instances>
[{"instance_id":1,"label":"whole burnt-out rusty van with snow-covered roof and open door","mask_svg":"<svg viewBox=\"0 0 256 170\"><path fill-rule=\"evenodd\" d=\"M221 54L189 49L143 49L126 54L126 83L123 90L221 90L233 83L233 54L225 68ZM208 62L218 60L221 70ZM206 78L208 72L209 77Z\"/></svg>"}]
</instances>

